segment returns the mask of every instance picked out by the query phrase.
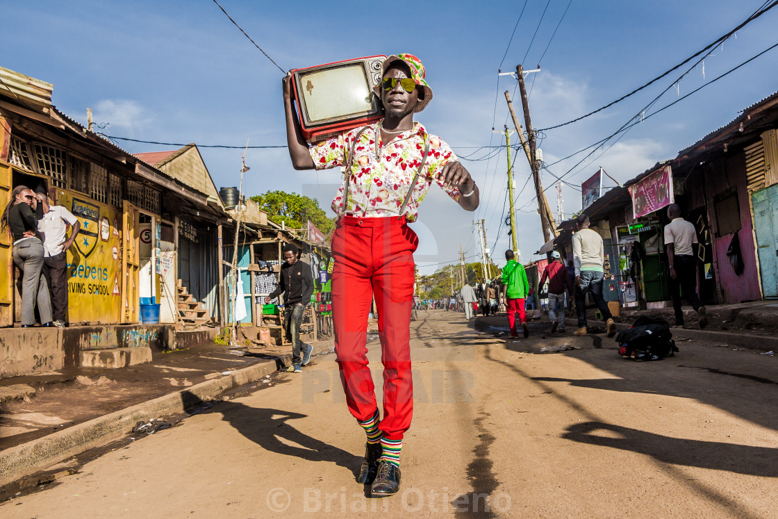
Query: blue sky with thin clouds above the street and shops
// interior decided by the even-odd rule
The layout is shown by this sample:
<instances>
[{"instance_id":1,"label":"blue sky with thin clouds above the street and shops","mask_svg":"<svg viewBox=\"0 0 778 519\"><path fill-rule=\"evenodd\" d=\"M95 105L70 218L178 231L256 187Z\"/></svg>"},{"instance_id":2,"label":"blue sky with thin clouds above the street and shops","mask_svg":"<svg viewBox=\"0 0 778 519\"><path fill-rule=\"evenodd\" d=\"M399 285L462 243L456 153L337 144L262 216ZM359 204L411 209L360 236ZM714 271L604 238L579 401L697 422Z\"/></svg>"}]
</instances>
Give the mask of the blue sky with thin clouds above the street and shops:
<instances>
[{"instance_id":1,"label":"blue sky with thin clouds above the street and shops","mask_svg":"<svg viewBox=\"0 0 778 519\"><path fill-rule=\"evenodd\" d=\"M220 3L285 70L371 54L417 54L435 94L417 120L457 154L475 152L471 158L487 155L478 146L504 144L501 135L492 134L492 125L502 129L507 122L510 127L503 92L513 93L516 81L498 79L501 61L503 72L521 62L535 68L540 61L541 72L527 78L527 87L534 128L548 128L653 79L762 5L761 0ZM109 135L233 146L247 139L253 146L286 143L282 73L212 0L29 0L5 2L2 17L0 65L53 83L54 104L78 121L86 122L86 107L92 107L97 123L109 123ZM584 121L545 132L540 146L545 162L611 135L668 86L654 109L752 58L776 43L776 22L778 8L717 47L704 61L704 76L698 65L678 89L672 85L685 68ZM565 212L580 210L580 182L598 167L623 182L675 156L775 92L776 71L778 49L636 125L580 167L570 170L585 153L549 167L556 176L570 170L564 178L572 185L562 190ZM521 118L518 92L513 99ZM121 146L131 153L172 149L131 142ZM202 149L217 187L237 185L240 153ZM520 190L530 170L523 156L513 153L513 158ZM335 170L294 171L286 149L250 150L247 163L248 195L296 191L328 208L338 184ZM440 189L430 190L414 224L422 242L417 261L430 265L422 272L432 272L438 262L456 261L460 244L468 261L475 261L478 239L471 222L481 218L494 259L504 263L502 252L510 246L503 224L505 150L490 160L463 163L481 186L482 205L475 213L464 212ZM555 178L544 172L542 181L555 212ZM543 242L533 198L531 183L517 197L524 261L537 258L532 253Z\"/></svg>"}]
</instances>

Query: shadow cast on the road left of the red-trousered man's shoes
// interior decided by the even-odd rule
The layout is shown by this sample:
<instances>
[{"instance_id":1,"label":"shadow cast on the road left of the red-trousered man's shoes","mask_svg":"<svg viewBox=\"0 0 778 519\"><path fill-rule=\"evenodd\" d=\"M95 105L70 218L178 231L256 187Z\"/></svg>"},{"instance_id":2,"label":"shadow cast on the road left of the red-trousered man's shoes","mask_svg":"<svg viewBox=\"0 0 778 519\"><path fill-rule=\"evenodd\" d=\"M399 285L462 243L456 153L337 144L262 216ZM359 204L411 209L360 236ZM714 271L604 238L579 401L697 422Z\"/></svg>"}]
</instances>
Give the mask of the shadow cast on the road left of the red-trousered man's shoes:
<instances>
[{"instance_id":1,"label":"shadow cast on the road left of the red-trousered man's shoes","mask_svg":"<svg viewBox=\"0 0 778 519\"><path fill-rule=\"evenodd\" d=\"M198 399L195 395L190 398ZM201 401L202 402L202 401ZM202 402L205 405L205 402ZM194 407L194 406L193 406ZM361 456L355 456L338 447L326 444L317 438L296 430L289 420L307 418L299 412L282 409L255 408L240 402L219 402L205 413L220 413L244 437L258 444L265 451L284 454L306 461L327 461L347 468L356 477L362 463ZM299 445L287 445L281 440Z\"/></svg>"}]
</instances>

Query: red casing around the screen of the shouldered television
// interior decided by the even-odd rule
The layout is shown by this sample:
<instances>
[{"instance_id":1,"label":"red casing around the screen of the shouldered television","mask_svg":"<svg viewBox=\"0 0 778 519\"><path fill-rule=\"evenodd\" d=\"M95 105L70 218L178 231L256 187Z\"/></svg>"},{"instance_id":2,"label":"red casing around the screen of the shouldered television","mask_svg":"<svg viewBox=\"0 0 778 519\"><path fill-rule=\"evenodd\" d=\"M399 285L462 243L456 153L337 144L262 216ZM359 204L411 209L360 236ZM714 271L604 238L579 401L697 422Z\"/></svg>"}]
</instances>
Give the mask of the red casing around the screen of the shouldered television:
<instances>
[{"instance_id":1,"label":"red casing around the screen of the shouldered television","mask_svg":"<svg viewBox=\"0 0 778 519\"><path fill-rule=\"evenodd\" d=\"M384 55L366 56L364 58L347 59L327 63L325 65L316 65L314 67L295 68L291 71L293 79L293 96L297 104L297 115L300 120L300 128L303 132L303 137L305 137L307 142L310 142L311 144L321 142L352 128L359 128L360 126L366 126L367 124L373 124L374 122L380 121L380 119L384 117L384 105L381 104L380 99L376 96L372 96L372 107L366 112L331 117L324 122L312 124L308 119L306 107L304 106L305 100L304 98L301 100L300 97L300 91L303 89L300 79L301 74L327 70L330 68L342 68L345 65L359 63L363 65L368 88L372 90L373 86L380 84L381 66L384 64L386 58L387 57Z\"/></svg>"}]
</instances>

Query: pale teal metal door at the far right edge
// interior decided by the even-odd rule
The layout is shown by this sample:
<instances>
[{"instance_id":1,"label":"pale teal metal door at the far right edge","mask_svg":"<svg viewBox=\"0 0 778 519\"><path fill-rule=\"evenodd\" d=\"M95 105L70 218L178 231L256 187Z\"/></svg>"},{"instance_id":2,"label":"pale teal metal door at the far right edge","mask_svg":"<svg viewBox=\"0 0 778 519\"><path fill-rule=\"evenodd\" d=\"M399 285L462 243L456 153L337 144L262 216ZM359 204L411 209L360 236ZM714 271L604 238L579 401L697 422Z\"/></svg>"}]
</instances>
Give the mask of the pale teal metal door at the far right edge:
<instances>
[{"instance_id":1,"label":"pale teal metal door at the far right edge","mask_svg":"<svg viewBox=\"0 0 778 519\"><path fill-rule=\"evenodd\" d=\"M751 196L762 292L765 298L778 297L778 184Z\"/></svg>"}]
</instances>

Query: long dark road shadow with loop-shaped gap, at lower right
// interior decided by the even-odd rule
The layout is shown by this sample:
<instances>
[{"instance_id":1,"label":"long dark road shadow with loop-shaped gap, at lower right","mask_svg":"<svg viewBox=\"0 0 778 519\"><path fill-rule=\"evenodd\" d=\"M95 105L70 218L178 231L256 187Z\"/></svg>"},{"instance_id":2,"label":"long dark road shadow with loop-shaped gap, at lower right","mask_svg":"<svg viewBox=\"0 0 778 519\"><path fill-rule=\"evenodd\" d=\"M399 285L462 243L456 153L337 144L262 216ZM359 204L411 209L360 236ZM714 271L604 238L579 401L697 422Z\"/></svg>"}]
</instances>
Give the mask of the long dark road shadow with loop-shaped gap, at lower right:
<instances>
[{"instance_id":1,"label":"long dark road shadow with loop-shaped gap, at lower right","mask_svg":"<svg viewBox=\"0 0 778 519\"><path fill-rule=\"evenodd\" d=\"M598 436L594 434L595 431L609 431L620 438ZM713 468L766 478L778 477L778 464L775 463L778 448L774 447L683 440L602 422L576 423L567 428L562 438L646 454L671 465Z\"/></svg>"}]
</instances>

